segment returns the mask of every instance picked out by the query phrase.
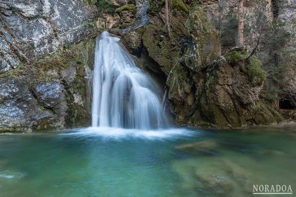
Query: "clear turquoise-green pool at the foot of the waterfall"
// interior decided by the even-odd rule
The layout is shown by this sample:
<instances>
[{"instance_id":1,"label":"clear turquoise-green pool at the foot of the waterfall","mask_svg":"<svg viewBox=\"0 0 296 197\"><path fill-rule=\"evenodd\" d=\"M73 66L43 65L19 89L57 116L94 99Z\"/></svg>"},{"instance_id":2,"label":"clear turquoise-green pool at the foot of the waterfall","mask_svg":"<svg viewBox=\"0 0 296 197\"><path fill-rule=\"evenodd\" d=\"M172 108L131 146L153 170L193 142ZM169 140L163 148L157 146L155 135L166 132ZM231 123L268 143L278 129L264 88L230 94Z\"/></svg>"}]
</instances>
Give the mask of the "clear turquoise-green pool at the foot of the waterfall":
<instances>
[{"instance_id":1,"label":"clear turquoise-green pool at the foot of the waterfall","mask_svg":"<svg viewBox=\"0 0 296 197\"><path fill-rule=\"evenodd\" d=\"M293 126L2 135L0 196L252 196L253 184L293 190L295 139Z\"/></svg>"}]
</instances>

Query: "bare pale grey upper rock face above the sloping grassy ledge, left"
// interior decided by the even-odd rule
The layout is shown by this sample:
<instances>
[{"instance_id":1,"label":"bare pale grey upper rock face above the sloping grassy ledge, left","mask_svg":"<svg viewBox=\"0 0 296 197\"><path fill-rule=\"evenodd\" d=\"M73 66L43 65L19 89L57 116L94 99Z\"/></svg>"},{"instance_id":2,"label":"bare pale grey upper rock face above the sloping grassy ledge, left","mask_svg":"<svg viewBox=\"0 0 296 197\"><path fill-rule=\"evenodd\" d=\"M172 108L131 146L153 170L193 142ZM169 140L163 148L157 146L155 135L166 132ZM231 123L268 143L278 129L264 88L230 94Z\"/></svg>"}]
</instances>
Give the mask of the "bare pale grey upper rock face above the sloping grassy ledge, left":
<instances>
[{"instance_id":1,"label":"bare pale grey upper rock face above the sloping grassy ledge, left","mask_svg":"<svg viewBox=\"0 0 296 197\"><path fill-rule=\"evenodd\" d=\"M0 4L0 73L20 60L36 61L61 45L96 36L84 23L96 19L95 6L83 0L7 1Z\"/></svg>"}]
</instances>

